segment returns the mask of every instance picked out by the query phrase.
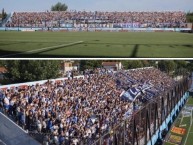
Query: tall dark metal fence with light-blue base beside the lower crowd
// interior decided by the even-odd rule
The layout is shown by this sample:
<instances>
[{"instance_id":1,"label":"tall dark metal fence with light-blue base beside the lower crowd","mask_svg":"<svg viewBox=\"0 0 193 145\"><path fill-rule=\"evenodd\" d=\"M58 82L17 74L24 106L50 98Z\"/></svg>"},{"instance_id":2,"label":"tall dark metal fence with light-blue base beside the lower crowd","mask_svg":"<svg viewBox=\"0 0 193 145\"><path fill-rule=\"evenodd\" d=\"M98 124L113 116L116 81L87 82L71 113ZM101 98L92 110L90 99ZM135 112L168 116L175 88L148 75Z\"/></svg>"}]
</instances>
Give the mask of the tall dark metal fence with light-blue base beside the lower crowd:
<instances>
[{"instance_id":1,"label":"tall dark metal fence with light-blue base beside the lower crowd","mask_svg":"<svg viewBox=\"0 0 193 145\"><path fill-rule=\"evenodd\" d=\"M173 89L160 94L132 116L111 128L92 145L154 145L163 139L169 127L189 97L191 80L184 78Z\"/></svg>"}]
</instances>

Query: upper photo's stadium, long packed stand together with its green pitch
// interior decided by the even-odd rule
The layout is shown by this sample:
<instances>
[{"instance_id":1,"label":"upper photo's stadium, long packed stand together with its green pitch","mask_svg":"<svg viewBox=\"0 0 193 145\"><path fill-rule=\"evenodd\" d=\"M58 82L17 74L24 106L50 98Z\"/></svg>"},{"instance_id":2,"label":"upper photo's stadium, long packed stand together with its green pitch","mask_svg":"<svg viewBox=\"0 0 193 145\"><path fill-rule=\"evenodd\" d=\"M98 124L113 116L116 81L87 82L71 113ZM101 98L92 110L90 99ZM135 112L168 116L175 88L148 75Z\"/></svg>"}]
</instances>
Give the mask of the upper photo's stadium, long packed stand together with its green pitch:
<instances>
[{"instance_id":1,"label":"upper photo's stadium, long packed stand together with its green pitch","mask_svg":"<svg viewBox=\"0 0 193 145\"><path fill-rule=\"evenodd\" d=\"M187 18L183 11L11 12L0 25L0 57L191 58Z\"/></svg>"}]
</instances>

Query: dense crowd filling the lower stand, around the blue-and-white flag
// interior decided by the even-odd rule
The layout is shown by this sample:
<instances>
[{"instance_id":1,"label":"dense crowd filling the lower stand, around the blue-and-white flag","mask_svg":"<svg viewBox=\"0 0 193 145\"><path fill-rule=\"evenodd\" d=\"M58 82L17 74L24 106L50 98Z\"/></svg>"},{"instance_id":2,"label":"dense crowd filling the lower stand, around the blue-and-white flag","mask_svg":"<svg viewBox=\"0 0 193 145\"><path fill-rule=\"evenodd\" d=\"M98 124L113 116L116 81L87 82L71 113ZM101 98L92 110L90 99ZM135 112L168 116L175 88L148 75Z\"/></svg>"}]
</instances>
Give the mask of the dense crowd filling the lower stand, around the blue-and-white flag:
<instances>
[{"instance_id":1,"label":"dense crowd filling the lower stand, around the blue-and-white flag","mask_svg":"<svg viewBox=\"0 0 193 145\"><path fill-rule=\"evenodd\" d=\"M123 84L125 80L130 84ZM123 121L131 108L131 103L120 99L122 85L129 89L145 81L159 91L175 83L155 68L114 73L97 69L80 78L1 90L0 109L25 130L45 134L49 144L79 145L83 140L91 144Z\"/></svg>"}]
</instances>

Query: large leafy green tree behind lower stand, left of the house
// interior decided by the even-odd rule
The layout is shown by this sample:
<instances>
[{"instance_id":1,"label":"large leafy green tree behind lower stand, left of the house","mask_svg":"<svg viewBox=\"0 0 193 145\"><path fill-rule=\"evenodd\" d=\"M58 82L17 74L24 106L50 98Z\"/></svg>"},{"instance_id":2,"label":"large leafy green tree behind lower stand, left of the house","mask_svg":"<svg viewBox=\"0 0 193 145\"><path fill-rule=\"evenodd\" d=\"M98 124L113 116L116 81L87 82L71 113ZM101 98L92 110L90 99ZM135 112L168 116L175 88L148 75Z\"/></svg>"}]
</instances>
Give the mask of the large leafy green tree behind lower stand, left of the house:
<instances>
[{"instance_id":1,"label":"large leafy green tree behind lower stand, left of the house","mask_svg":"<svg viewBox=\"0 0 193 145\"><path fill-rule=\"evenodd\" d=\"M59 76L60 61L56 60L7 60L6 77L12 83L37 81Z\"/></svg>"}]
</instances>

